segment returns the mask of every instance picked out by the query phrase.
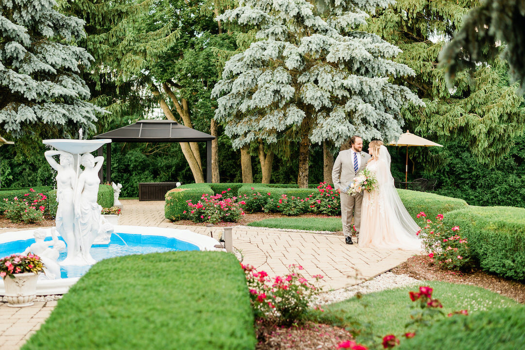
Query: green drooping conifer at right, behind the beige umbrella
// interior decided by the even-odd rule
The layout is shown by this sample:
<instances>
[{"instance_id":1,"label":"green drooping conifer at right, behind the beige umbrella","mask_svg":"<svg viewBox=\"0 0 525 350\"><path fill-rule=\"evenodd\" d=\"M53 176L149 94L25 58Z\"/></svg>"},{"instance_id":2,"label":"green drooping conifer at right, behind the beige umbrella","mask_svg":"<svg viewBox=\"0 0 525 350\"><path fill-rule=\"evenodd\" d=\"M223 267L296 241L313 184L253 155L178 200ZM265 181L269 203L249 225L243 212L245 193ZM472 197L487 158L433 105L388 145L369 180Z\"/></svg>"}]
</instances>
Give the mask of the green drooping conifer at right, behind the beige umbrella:
<instances>
[{"instance_id":1,"label":"green drooping conifer at right, behind the beige umbrella","mask_svg":"<svg viewBox=\"0 0 525 350\"><path fill-rule=\"evenodd\" d=\"M508 65L499 57L446 83L446 71L438 67L439 52L458 29L476 0L399 0L369 20L367 30L403 50L395 60L407 64L414 76L398 78L423 99L425 107L403 110L411 130L467 146L482 163L494 165L512 145L513 137L525 130L523 97L509 85ZM419 150L428 152L428 150ZM426 158L427 166L442 164Z\"/></svg>"}]
</instances>

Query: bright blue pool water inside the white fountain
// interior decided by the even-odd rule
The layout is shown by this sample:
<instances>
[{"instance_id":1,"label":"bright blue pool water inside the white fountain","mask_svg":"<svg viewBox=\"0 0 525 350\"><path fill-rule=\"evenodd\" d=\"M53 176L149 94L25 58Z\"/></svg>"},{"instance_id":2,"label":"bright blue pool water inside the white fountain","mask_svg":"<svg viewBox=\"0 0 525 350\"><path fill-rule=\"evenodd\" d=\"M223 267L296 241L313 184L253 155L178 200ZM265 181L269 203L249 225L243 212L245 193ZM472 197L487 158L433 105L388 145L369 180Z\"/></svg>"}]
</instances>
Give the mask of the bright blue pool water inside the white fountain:
<instances>
[{"instance_id":1,"label":"bright blue pool water inside the white fountain","mask_svg":"<svg viewBox=\"0 0 525 350\"><path fill-rule=\"evenodd\" d=\"M59 239L62 239L59 237ZM47 237L45 240L51 240ZM22 253L28 246L35 243L34 238L13 240L0 245L0 257L11 255L14 253ZM148 254L148 253L162 253L163 251L171 250L199 250L199 247L184 242L183 240L166 237L166 236L152 236L129 233L113 233L109 244L93 245L91 247L91 256L93 259L100 261L103 259L113 258L117 256L133 255L133 254ZM66 258L67 251L63 250L60 253L58 261ZM91 266L62 266L60 267L62 278L81 277L86 274Z\"/></svg>"}]
</instances>

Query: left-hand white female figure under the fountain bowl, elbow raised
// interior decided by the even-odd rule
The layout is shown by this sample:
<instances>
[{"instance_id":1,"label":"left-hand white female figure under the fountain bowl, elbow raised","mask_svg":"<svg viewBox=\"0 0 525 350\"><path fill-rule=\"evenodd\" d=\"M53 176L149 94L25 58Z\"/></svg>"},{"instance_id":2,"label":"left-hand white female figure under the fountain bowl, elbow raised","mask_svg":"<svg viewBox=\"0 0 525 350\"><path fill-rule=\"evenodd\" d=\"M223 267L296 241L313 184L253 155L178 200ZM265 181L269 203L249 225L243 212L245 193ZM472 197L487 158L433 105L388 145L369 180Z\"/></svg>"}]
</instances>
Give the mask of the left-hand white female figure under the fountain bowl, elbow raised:
<instances>
[{"instance_id":1,"label":"left-hand white female figure under the fountain bowl, elbow raised","mask_svg":"<svg viewBox=\"0 0 525 350\"><path fill-rule=\"evenodd\" d=\"M57 171L57 215L56 228L60 236L67 244L67 258L62 264L71 263L80 253L80 246L75 232L75 212L73 196L77 181L77 172L74 168L74 159L71 154L64 151L46 151L44 153L49 165ZM57 163L54 156L60 156L60 163Z\"/></svg>"}]
</instances>

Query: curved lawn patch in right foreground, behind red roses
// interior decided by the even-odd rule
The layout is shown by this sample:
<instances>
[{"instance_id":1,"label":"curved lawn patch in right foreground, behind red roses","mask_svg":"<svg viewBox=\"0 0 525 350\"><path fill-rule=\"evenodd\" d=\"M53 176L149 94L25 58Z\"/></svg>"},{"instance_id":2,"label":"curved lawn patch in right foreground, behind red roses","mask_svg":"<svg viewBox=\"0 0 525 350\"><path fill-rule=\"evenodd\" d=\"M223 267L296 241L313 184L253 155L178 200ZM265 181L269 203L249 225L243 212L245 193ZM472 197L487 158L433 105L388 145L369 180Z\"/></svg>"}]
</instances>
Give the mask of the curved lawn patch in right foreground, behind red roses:
<instances>
[{"instance_id":1,"label":"curved lawn patch in right foreground, behind red roses","mask_svg":"<svg viewBox=\"0 0 525 350\"><path fill-rule=\"evenodd\" d=\"M410 320L411 305L415 304L408 297L409 291L418 291L419 286L430 286L434 289L433 298L443 304L443 312L468 310L475 314L484 310L505 308L518 303L510 298L502 297L489 290L454 283L421 281L414 287L397 288L376 293L364 294L362 299L351 298L342 302L325 305L322 320L331 323L355 327L363 327L375 335L395 334L401 336L405 332L405 324ZM357 326L360 324L360 326ZM358 341L360 336L357 337ZM363 338L361 338L363 341Z\"/></svg>"}]
</instances>

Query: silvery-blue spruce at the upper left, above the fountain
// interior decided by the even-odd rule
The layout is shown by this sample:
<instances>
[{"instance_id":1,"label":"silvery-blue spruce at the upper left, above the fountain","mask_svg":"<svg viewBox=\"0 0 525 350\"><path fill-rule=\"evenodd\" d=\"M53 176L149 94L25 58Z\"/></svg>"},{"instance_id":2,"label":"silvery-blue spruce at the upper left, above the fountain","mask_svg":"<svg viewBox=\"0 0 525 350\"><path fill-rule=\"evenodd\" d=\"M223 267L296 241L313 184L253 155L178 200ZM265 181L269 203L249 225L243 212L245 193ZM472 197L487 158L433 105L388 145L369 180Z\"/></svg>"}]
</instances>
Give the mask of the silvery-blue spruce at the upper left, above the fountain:
<instances>
[{"instance_id":1,"label":"silvery-blue spruce at the upper left, above the fountain","mask_svg":"<svg viewBox=\"0 0 525 350\"><path fill-rule=\"evenodd\" d=\"M80 77L93 57L75 43L85 21L54 9L53 0L0 3L0 125L12 136L76 135L95 129L102 108L86 102Z\"/></svg>"}]
</instances>

